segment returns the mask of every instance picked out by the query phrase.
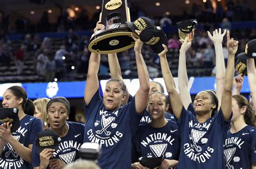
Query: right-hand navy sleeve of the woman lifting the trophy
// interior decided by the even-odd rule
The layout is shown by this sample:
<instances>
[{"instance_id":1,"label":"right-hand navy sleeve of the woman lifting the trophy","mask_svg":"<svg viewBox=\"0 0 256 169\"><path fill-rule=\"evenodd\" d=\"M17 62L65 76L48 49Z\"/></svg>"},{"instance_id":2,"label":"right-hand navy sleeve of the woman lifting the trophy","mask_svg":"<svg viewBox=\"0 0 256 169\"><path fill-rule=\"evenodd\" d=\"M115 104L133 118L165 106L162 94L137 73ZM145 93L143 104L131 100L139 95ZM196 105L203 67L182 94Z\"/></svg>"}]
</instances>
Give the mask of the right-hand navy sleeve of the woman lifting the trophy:
<instances>
[{"instance_id":1,"label":"right-hand navy sleeve of the woman lifting the trophy","mask_svg":"<svg viewBox=\"0 0 256 169\"><path fill-rule=\"evenodd\" d=\"M135 97L133 97L132 101L128 104L129 105L127 106L129 106L131 133L132 136L134 136L138 129L140 119L142 119L142 116L145 113L146 109L141 114L138 114L136 112Z\"/></svg>"}]
</instances>

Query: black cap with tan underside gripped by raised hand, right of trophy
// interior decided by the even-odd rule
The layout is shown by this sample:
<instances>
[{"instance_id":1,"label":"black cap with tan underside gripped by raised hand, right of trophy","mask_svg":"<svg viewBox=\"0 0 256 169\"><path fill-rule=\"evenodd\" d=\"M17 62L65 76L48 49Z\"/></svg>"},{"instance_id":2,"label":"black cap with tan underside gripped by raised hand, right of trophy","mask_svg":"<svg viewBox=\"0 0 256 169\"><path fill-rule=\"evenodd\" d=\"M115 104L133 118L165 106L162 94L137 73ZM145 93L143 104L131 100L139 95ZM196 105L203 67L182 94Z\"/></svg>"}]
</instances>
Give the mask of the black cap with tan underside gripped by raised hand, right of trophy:
<instances>
[{"instance_id":1,"label":"black cap with tan underside gripped by raised hand, right of trophy","mask_svg":"<svg viewBox=\"0 0 256 169\"><path fill-rule=\"evenodd\" d=\"M176 23L179 29L179 37L181 40L185 40L188 37L188 41L194 38L194 30L197 29L197 19L183 20Z\"/></svg>"}]
</instances>

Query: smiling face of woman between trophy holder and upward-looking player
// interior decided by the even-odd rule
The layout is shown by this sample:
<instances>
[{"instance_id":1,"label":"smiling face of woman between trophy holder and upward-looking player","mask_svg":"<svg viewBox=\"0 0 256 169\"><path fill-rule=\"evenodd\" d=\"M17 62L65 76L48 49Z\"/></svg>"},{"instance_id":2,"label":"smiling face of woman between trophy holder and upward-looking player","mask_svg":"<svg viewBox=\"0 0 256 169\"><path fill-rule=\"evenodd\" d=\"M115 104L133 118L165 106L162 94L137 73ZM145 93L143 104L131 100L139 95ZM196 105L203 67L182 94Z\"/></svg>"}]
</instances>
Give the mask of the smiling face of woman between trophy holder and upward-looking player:
<instances>
[{"instance_id":1,"label":"smiling face of woman between trophy holder and upward-looking player","mask_svg":"<svg viewBox=\"0 0 256 169\"><path fill-rule=\"evenodd\" d=\"M147 111L149 111L152 121L154 119L164 119L168 107L169 104L166 104L166 97L163 94L153 93L150 95L147 102Z\"/></svg>"}]
</instances>

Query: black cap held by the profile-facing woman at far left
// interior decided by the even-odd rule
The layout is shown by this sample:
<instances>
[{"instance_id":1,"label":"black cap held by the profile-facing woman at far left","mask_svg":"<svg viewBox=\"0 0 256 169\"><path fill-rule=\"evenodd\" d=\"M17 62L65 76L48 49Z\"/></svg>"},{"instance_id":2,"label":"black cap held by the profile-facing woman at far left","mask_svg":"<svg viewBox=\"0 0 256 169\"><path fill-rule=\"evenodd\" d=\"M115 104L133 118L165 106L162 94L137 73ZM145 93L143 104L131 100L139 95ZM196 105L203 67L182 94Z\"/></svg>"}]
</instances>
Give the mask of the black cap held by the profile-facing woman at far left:
<instances>
[{"instance_id":1,"label":"black cap held by the profile-facing woman at far left","mask_svg":"<svg viewBox=\"0 0 256 169\"><path fill-rule=\"evenodd\" d=\"M16 108L0 108L0 125L9 122L12 124L11 132L15 132L19 128L18 109Z\"/></svg>"}]
</instances>

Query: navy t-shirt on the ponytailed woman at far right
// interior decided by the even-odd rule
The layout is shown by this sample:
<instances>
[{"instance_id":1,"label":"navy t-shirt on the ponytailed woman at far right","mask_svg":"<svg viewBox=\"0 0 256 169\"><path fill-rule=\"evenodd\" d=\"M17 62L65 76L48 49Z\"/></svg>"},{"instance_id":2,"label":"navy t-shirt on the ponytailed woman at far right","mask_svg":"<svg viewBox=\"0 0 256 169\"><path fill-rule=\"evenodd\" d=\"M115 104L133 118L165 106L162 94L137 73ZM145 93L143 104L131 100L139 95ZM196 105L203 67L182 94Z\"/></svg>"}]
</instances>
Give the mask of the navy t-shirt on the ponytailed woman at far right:
<instances>
[{"instance_id":1,"label":"navy t-shirt on the ponytailed woman at far right","mask_svg":"<svg viewBox=\"0 0 256 169\"><path fill-rule=\"evenodd\" d=\"M251 168L256 163L254 152L255 128L247 125L242 130L231 133L227 131L224 143L224 157L226 168Z\"/></svg>"}]
</instances>

